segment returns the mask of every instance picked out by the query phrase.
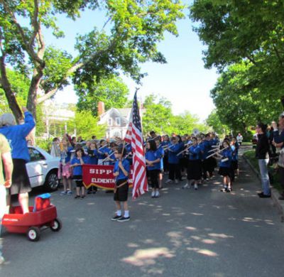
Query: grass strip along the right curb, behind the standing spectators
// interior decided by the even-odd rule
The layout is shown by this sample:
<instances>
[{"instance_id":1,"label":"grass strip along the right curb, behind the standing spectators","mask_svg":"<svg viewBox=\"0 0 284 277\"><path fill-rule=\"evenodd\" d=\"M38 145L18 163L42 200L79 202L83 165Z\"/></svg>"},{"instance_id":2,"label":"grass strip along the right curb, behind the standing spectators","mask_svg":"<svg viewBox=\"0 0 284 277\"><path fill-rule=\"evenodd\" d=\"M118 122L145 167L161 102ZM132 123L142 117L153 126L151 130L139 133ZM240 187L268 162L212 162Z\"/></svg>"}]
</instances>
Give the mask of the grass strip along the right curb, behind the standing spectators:
<instances>
[{"instance_id":1,"label":"grass strip along the right curb, behind the standing spectators","mask_svg":"<svg viewBox=\"0 0 284 277\"><path fill-rule=\"evenodd\" d=\"M261 174L259 173L258 161L255 157L256 152L254 150L249 150L244 152L244 161L249 164L251 170L256 173L257 177L261 179ZM269 179L271 180L271 198L273 200L274 205L278 208L281 214L281 222L284 222L284 201L278 200L280 193L282 192L282 188L279 181L278 170L275 168L275 165L270 164L268 166L268 174Z\"/></svg>"}]
</instances>

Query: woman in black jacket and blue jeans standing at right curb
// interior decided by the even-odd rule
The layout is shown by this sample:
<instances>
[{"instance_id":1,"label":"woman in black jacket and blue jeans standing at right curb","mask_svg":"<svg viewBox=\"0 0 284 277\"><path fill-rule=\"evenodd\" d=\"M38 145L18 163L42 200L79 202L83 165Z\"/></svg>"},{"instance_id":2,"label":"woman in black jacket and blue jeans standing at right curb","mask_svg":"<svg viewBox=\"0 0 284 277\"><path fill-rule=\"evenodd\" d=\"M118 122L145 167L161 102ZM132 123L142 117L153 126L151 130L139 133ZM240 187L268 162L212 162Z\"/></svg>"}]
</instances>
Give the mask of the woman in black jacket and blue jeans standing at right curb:
<instances>
[{"instance_id":1,"label":"woman in black jacket and blue jeans standing at right curb","mask_svg":"<svg viewBox=\"0 0 284 277\"><path fill-rule=\"evenodd\" d=\"M256 158L258 159L259 170L261 172L262 192L258 193L261 198L271 197L271 184L269 182L267 165L269 162L269 143L266 136L267 126L263 123L258 123L256 132L258 134L258 143L256 146Z\"/></svg>"}]
</instances>

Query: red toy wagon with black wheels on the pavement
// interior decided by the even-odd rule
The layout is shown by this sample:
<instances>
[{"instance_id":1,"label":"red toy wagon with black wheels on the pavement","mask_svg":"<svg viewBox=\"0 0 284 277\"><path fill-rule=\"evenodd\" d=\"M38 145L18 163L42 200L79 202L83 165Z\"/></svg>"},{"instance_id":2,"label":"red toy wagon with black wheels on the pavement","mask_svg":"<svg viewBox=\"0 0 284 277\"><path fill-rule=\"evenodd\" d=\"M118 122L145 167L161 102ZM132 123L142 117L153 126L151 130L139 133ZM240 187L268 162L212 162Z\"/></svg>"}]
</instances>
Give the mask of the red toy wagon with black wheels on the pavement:
<instances>
[{"instance_id":1,"label":"red toy wagon with black wheels on the pavement","mask_svg":"<svg viewBox=\"0 0 284 277\"><path fill-rule=\"evenodd\" d=\"M62 223L58 219L56 207L49 205L43 210L33 212L34 207L29 207L30 212L23 214L21 207L11 207L10 214L4 214L2 225L8 232L26 234L30 241L40 239L40 229L49 227L53 232L58 232Z\"/></svg>"}]
</instances>

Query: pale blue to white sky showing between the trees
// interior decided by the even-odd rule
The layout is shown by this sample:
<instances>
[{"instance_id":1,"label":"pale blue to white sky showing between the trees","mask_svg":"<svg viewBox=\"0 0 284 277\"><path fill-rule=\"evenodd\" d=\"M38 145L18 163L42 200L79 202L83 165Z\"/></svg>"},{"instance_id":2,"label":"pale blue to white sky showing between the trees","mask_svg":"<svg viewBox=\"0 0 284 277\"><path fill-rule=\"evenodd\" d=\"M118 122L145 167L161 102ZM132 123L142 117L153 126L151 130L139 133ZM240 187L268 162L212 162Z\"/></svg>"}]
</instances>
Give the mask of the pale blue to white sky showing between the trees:
<instances>
[{"instance_id":1,"label":"pale blue to white sky showing between the trees","mask_svg":"<svg viewBox=\"0 0 284 277\"><path fill-rule=\"evenodd\" d=\"M76 34L88 33L93 26L102 28L105 20L102 11L85 11L77 21L60 16L58 26L65 32L65 38L57 40L49 31L46 31L45 40L52 41L56 47L75 55L73 45ZM177 26L179 36L165 33L165 40L158 45L158 50L165 55L168 63L141 65L141 72L147 72L148 75L142 80L138 97L142 101L146 95L152 93L165 97L172 103L174 114L188 111L197 115L200 121L204 121L214 109L209 94L210 89L217 82L217 70L204 68L202 50L205 48L197 34L192 31L192 22L188 16L178 21ZM129 99L132 99L137 85L129 77L124 76L123 80L129 87ZM68 86L58 92L55 102L76 103L77 96L73 87Z\"/></svg>"}]
</instances>

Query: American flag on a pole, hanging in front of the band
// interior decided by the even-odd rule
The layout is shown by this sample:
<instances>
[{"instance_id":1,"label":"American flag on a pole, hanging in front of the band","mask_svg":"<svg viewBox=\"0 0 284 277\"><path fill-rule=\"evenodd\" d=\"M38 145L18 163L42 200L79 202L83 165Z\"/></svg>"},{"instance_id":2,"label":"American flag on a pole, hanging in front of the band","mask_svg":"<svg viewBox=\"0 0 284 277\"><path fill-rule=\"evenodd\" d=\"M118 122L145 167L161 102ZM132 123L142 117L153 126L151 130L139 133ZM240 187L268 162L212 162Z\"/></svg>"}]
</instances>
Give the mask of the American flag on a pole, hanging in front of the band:
<instances>
[{"instance_id":1,"label":"American flag on a pole, hanging in front of the band","mask_svg":"<svg viewBox=\"0 0 284 277\"><path fill-rule=\"evenodd\" d=\"M148 191L146 177L146 161L143 150L143 136L141 127L141 118L137 104L137 92L134 94L133 106L129 120L129 126L126 131L126 143L131 144L133 153L133 190L132 198L135 199Z\"/></svg>"}]
</instances>

